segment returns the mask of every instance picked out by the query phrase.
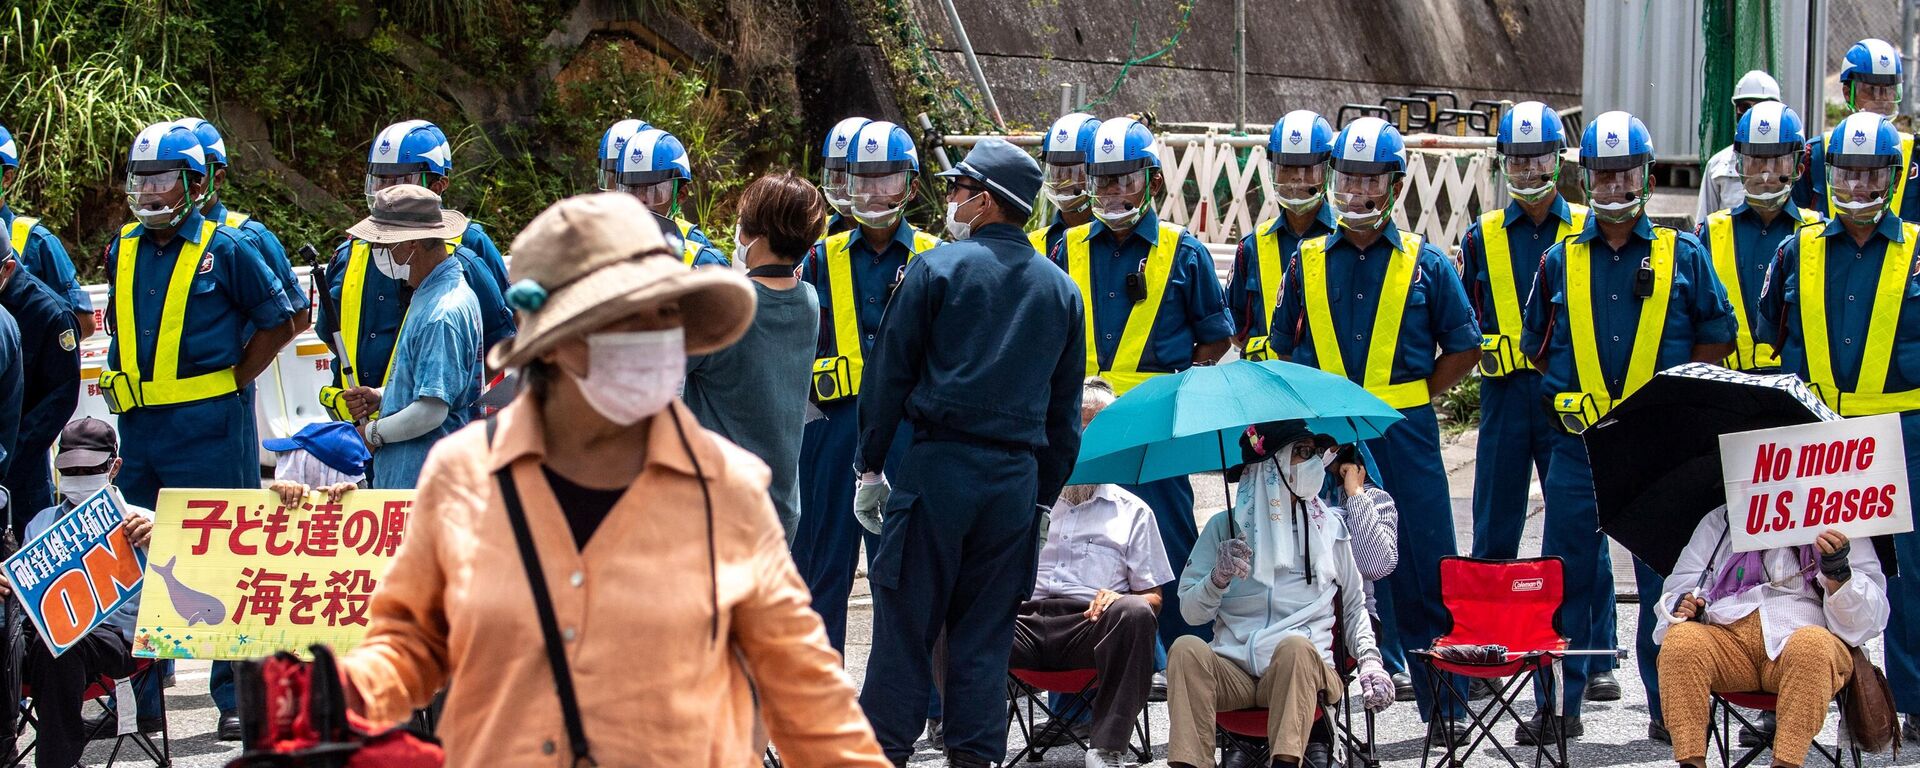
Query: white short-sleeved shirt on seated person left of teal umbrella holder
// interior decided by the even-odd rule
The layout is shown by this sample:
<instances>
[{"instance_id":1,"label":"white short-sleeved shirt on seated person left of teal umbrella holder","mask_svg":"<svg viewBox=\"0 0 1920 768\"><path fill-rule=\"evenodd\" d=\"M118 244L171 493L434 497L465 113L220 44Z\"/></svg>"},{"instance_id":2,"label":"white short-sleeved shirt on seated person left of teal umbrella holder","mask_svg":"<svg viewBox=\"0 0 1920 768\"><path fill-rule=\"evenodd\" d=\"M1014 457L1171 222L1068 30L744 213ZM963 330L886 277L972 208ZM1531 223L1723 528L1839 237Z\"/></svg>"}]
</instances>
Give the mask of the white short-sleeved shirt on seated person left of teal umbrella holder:
<instances>
[{"instance_id":1,"label":"white short-sleeved shirt on seated person left of teal umbrella holder","mask_svg":"<svg viewBox=\"0 0 1920 768\"><path fill-rule=\"evenodd\" d=\"M1091 601L1100 589L1146 591L1173 582L1154 509L1139 495L1100 484L1085 503L1054 501L1033 599Z\"/></svg>"}]
</instances>

